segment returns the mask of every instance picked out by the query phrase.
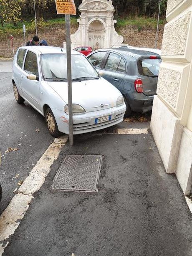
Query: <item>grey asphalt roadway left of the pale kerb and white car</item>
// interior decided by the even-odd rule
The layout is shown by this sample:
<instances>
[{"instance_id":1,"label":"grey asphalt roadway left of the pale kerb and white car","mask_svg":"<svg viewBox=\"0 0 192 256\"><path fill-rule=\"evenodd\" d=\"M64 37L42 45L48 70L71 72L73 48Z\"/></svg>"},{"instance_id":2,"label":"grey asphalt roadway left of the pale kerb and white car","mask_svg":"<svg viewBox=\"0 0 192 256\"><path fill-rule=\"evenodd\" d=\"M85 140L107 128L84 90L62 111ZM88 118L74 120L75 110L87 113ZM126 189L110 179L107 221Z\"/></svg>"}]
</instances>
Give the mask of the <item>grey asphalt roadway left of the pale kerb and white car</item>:
<instances>
[{"instance_id":1,"label":"grey asphalt roadway left of the pale kerb and white car","mask_svg":"<svg viewBox=\"0 0 192 256\"><path fill-rule=\"evenodd\" d=\"M0 61L0 147L3 155L0 166L3 188L0 214L10 203L15 188L19 188L18 182L28 176L53 141L44 117L29 104L19 105L15 101L11 72L12 62ZM35 132L35 129L40 129L40 132ZM10 147L18 150L5 153Z\"/></svg>"}]
</instances>

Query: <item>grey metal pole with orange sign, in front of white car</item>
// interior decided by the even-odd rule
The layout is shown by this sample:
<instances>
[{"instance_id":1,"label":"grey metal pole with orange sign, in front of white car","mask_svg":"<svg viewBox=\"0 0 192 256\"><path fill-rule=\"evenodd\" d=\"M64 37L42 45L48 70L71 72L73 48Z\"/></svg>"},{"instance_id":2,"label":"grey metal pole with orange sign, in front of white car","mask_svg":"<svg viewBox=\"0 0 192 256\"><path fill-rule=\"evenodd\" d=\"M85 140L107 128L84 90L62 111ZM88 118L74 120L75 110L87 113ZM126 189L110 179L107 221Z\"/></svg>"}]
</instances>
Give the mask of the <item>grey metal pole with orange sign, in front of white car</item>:
<instances>
[{"instance_id":1,"label":"grey metal pole with orange sign, in front of white car","mask_svg":"<svg viewBox=\"0 0 192 256\"><path fill-rule=\"evenodd\" d=\"M67 47L67 82L68 82L68 110L69 110L69 144L73 146L73 105L72 105L72 76L71 76L71 19L70 14L76 15L73 0L55 0L57 14L66 15L66 47Z\"/></svg>"}]
</instances>

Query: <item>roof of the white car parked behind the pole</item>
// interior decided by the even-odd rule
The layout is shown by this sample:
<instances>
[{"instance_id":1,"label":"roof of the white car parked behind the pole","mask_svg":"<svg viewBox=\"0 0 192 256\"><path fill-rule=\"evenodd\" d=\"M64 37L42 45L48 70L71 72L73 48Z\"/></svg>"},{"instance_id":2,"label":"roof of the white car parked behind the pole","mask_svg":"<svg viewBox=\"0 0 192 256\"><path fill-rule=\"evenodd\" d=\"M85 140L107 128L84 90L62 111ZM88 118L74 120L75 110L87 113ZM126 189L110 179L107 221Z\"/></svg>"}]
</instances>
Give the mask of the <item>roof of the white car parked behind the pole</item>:
<instances>
[{"instance_id":1,"label":"roof of the white car parked behind the pole","mask_svg":"<svg viewBox=\"0 0 192 256\"><path fill-rule=\"evenodd\" d=\"M22 46L21 49L28 49L28 50L35 50L39 54L46 54L46 53L63 53L66 54L66 49L61 47L55 46ZM62 51L61 51L62 49ZM71 50L71 53L81 55L78 51Z\"/></svg>"}]
</instances>

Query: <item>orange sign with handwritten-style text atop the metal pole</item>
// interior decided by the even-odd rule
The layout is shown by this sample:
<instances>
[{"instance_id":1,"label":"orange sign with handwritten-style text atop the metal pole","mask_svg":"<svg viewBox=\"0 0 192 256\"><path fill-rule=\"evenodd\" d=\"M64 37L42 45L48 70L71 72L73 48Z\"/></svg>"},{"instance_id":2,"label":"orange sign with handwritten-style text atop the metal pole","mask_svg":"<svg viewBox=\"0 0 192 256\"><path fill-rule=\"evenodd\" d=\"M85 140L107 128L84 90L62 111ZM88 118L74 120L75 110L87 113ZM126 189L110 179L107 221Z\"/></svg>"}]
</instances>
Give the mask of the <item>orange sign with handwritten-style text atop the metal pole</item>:
<instances>
[{"instance_id":1,"label":"orange sign with handwritten-style text atop the metal pole","mask_svg":"<svg viewBox=\"0 0 192 256\"><path fill-rule=\"evenodd\" d=\"M76 15L76 7L73 0L55 0L57 14Z\"/></svg>"}]
</instances>

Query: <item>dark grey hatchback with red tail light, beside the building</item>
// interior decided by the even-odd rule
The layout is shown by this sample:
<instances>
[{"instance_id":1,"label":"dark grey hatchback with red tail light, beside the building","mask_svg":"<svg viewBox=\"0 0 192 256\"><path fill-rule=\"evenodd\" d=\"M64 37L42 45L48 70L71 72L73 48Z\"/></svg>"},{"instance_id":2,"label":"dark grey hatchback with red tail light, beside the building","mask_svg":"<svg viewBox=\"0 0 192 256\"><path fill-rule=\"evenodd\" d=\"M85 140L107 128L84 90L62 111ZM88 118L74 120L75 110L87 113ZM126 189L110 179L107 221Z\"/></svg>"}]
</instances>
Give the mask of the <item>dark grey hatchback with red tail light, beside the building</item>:
<instances>
[{"instance_id":1,"label":"dark grey hatchback with red tail light, beside the building","mask_svg":"<svg viewBox=\"0 0 192 256\"><path fill-rule=\"evenodd\" d=\"M149 51L111 48L94 51L87 56L100 75L124 96L128 117L132 111L152 110L161 58Z\"/></svg>"}]
</instances>

